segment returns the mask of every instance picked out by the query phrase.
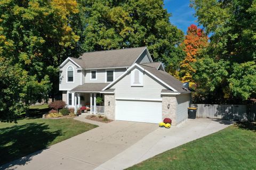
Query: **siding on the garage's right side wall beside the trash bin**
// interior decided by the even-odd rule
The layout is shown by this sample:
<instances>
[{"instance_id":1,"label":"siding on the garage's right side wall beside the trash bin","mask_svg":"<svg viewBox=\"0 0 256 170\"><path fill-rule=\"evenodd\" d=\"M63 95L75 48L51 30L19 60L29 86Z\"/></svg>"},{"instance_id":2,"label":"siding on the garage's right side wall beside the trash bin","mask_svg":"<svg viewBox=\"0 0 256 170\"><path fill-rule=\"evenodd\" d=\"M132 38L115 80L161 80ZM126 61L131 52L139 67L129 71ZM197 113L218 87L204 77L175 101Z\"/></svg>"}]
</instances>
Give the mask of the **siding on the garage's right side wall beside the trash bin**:
<instances>
[{"instance_id":1,"label":"siding on the garage's right side wall beside the trash bin","mask_svg":"<svg viewBox=\"0 0 256 170\"><path fill-rule=\"evenodd\" d=\"M182 121L188 118L188 107L190 103L190 94L181 94L177 97L177 111L176 111L176 124L178 125Z\"/></svg>"}]
</instances>

